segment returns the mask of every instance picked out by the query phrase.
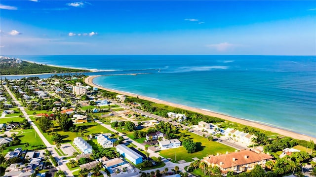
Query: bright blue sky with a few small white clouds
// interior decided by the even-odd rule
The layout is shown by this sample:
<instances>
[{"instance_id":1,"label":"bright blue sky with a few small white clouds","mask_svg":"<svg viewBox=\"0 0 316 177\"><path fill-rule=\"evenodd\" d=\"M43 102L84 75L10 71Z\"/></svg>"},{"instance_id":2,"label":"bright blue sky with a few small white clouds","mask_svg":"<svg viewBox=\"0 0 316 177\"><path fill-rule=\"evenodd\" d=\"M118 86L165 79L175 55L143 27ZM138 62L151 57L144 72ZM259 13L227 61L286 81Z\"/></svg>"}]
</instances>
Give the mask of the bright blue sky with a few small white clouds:
<instances>
[{"instance_id":1,"label":"bright blue sky with a few small white clouds","mask_svg":"<svg viewBox=\"0 0 316 177\"><path fill-rule=\"evenodd\" d=\"M1 55L316 55L315 1L0 3Z\"/></svg>"}]
</instances>

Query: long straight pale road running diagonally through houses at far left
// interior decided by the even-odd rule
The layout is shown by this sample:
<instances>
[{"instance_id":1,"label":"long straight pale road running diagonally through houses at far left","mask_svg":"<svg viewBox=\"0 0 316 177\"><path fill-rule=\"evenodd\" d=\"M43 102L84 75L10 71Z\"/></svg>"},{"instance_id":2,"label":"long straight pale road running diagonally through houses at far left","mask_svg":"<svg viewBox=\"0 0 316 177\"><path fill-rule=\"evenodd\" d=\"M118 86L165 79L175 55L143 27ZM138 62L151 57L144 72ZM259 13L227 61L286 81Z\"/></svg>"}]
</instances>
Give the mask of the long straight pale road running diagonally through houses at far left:
<instances>
[{"instance_id":1,"label":"long straight pale road running diagonally through houses at far left","mask_svg":"<svg viewBox=\"0 0 316 177\"><path fill-rule=\"evenodd\" d=\"M43 143L46 145L47 150L49 150L52 154L52 156L56 159L56 161L58 162L59 165L59 170L62 170L65 172L65 174L67 175L67 177L73 177L74 175L71 173L71 171L68 169L66 163L63 163L63 161L61 160L61 157L57 154L57 152L55 151L54 147L55 145L50 144L45 137L43 136L43 134L40 132L39 128L35 125L35 123L29 118L29 115L26 113L25 109L23 106L21 106L20 102L18 102L15 98L15 96L11 93L11 91L7 88L6 85L4 85L4 88L6 89L6 91L9 93L9 95L12 97L13 102L16 104L16 106L19 107L19 109L21 110L21 112L23 113L24 117L28 120L28 122L30 123L30 125L34 128L34 130L37 132L37 134L40 136L40 139L43 141Z\"/></svg>"}]
</instances>

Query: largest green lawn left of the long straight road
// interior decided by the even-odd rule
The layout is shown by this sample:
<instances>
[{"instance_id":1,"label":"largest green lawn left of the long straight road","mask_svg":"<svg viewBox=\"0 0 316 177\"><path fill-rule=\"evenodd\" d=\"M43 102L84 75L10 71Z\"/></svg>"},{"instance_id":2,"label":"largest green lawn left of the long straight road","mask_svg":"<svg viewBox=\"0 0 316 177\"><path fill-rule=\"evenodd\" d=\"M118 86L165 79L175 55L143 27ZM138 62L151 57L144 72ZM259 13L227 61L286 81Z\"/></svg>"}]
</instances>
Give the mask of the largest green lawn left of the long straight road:
<instances>
[{"instance_id":1,"label":"largest green lawn left of the long straight road","mask_svg":"<svg viewBox=\"0 0 316 177\"><path fill-rule=\"evenodd\" d=\"M26 147L24 146L26 142L30 144L28 147L28 150L35 149L37 145L44 144L41 141L40 136L36 133L36 131L33 128L25 129L25 130L19 129L19 130L22 132L22 134L19 133L17 137L21 140L21 143L19 145L6 147L6 149L3 150L2 152L3 154L7 153L8 151L14 150L15 148L18 148L18 147L21 147L22 149L26 149Z\"/></svg>"}]
</instances>

